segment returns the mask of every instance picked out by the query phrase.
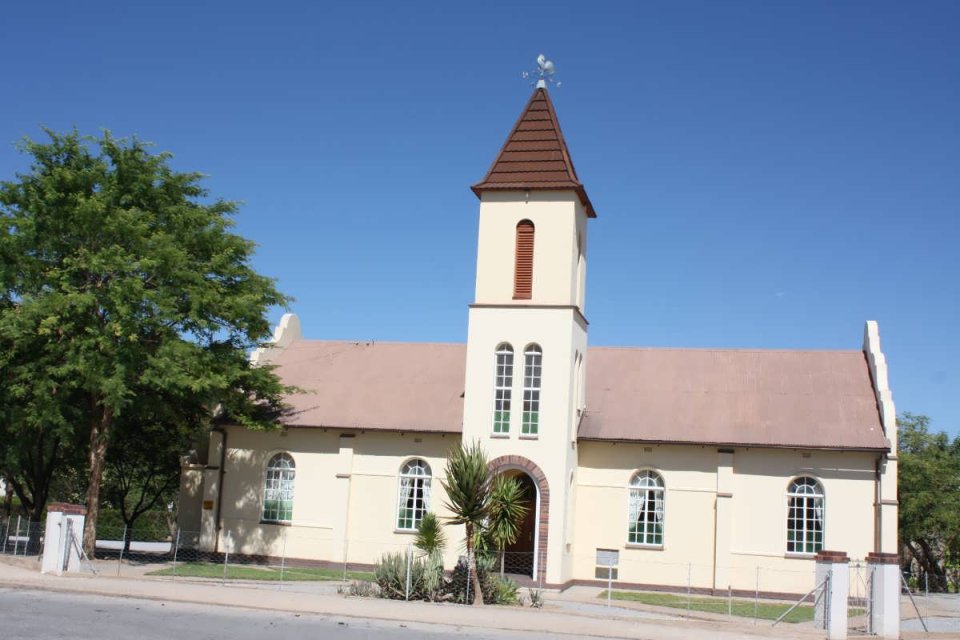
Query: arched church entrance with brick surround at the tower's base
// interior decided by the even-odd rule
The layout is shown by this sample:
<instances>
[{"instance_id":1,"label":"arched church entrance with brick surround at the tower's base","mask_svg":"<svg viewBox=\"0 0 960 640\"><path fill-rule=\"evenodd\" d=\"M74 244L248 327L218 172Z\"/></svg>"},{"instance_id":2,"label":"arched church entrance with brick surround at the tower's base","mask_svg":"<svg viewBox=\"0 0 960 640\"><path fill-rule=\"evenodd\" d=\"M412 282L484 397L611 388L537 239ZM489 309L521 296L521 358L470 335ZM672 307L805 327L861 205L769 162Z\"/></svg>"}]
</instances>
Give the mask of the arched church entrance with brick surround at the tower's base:
<instances>
[{"instance_id":1,"label":"arched church entrance with brick surround at the tower's base","mask_svg":"<svg viewBox=\"0 0 960 640\"><path fill-rule=\"evenodd\" d=\"M516 558L515 573L542 581L546 576L549 535L547 523L550 521L550 487L547 477L536 464L523 456L515 455L500 456L491 460L490 470L496 474L516 476L522 483L524 495L531 502L521 535L517 537L515 545L511 545L510 548L518 554L514 556ZM510 572L510 567L506 566L506 558L504 560L504 569Z\"/></svg>"}]
</instances>

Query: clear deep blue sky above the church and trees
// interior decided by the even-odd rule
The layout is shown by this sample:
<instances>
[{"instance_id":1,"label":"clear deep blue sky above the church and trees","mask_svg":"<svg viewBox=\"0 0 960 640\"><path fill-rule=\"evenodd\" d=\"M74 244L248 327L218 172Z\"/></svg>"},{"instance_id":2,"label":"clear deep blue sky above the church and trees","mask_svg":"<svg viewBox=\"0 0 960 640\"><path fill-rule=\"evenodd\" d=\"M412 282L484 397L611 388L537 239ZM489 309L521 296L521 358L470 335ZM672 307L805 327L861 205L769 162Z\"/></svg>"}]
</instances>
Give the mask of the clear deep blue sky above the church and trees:
<instances>
[{"instance_id":1,"label":"clear deep blue sky above the church and trees","mask_svg":"<svg viewBox=\"0 0 960 640\"><path fill-rule=\"evenodd\" d=\"M898 410L960 433L956 2L20 2L0 25L0 177L40 125L152 140L243 202L257 268L331 339L465 339L468 187L542 51L598 212L592 344L856 349L874 319Z\"/></svg>"}]
</instances>

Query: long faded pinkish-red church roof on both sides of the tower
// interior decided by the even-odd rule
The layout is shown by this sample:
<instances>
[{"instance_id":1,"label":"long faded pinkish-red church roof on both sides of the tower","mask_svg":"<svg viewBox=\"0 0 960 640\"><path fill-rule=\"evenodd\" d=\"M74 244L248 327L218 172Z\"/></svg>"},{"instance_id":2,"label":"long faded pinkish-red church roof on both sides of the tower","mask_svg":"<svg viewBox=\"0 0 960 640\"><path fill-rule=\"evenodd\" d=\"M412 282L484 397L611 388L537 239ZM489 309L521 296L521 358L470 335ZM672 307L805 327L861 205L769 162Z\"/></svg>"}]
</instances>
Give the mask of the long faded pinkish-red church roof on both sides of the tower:
<instances>
[{"instance_id":1,"label":"long faded pinkish-red church roof on both sides of the tower","mask_svg":"<svg viewBox=\"0 0 960 640\"><path fill-rule=\"evenodd\" d=\"M466 346L295 340L290 426L460 433ZM885 450L860 351L592 347L581 440Z\"/></svg>"}]
</instances>

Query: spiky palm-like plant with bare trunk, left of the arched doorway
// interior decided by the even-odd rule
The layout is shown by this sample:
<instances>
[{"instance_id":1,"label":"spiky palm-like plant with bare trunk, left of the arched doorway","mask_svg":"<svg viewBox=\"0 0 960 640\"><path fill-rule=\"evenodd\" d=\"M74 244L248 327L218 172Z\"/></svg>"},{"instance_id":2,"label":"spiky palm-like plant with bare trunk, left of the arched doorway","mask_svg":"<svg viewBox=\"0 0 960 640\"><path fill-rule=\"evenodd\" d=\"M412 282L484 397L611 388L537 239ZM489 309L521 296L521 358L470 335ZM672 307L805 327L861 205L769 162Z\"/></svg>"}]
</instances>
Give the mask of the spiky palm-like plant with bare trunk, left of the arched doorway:
<instances>
[{"instance_id":1,"label":"spiky palm-like plant with bare trunk, left of the arched doorway","mask_svg":"<svg viewBox=\"0 0 960 640\"><path fill-rule=\"evenodd\" d=\"M480 579L473 553L474 532L482 530L490 515L492 482L487 455L479 442L464 447L457 445L447 456L446 478L441 481L447 492L444 507L453 516L447 524L462 524L467 533L467 575L473 586L473 604L483 604Z\"/></svg>"}]
</instances>

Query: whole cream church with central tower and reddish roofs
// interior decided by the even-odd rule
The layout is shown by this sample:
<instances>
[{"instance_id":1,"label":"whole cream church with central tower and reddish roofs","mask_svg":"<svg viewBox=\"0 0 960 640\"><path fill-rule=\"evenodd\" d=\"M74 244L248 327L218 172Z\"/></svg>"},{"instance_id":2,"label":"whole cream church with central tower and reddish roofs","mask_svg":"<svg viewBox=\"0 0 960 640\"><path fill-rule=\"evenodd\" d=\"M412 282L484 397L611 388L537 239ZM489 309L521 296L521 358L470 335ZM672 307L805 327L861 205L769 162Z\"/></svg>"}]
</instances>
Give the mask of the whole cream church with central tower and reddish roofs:
<instances>
[{"instance_id":1,"label":"whole cream church with central tower and reddish roofs","mask_svg":"<svg viewBox=\"0 0 960 640\"><path fill-rule=\"evenodd\" d=\"M270 433L211 433L180 526L209 551L369 566L441 519L445 456L479 441L528 517L511 571L550 587L804 593L821 550L897 551L895 409L860 349L588 346L598 212L541 81L484 178L466 344L308 339L254 354L300 390ZM638 336L642 339L642 336ZM461 553L448 527L446 566Z\"/></svg>"}]
</instances>

